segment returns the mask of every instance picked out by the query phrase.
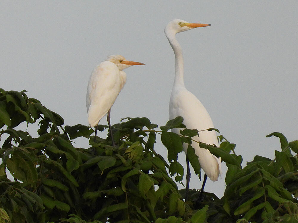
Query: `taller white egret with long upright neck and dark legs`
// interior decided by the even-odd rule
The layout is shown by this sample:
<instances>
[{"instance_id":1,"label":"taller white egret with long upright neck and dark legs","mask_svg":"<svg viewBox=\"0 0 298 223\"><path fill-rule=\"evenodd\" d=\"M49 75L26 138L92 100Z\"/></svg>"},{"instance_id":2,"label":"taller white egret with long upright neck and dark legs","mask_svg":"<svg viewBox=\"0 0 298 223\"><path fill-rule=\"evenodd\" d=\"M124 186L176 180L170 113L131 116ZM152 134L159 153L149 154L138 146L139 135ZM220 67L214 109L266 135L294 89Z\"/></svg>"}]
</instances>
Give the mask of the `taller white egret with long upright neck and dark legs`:
<instances>
[{"instance_id":1,"label":"taller white egret with long upright neck and dark legs","mask_svg":"<svg viewBox=\"0 0 298 223\"><path fill-rule=\"evenodd\" d=\"M212 120L202 105L202 103L184 86L183 80L183 55L182 48L176 40L176 34L196 27L211 26L210 24L188 23L181 19L170 21L164 29L164 33L169 40L175 54L175 80L170 98L169 113L170 120L177 116L182 116L183 124L189 129L205 130L213 128ZM173 129L173 132L179 134L179 129ZM218 140L215 131L200 131L199 136L194 136L194 140L204 142L208 145L216 145ZM207 180L207 176L212 181L217 181L221 174L221 159L210 153L209 150L199 147L198 143L192 143L195 154L198 156L201 168L204 170L204 180L200 193L201 200L202 191ZM184 143L183 149L187 152L187 145ZM186 200L188 197L188 188L190 180L189 161L186 156L187 175L186 175Z\"/></svg>"}]
</instances>

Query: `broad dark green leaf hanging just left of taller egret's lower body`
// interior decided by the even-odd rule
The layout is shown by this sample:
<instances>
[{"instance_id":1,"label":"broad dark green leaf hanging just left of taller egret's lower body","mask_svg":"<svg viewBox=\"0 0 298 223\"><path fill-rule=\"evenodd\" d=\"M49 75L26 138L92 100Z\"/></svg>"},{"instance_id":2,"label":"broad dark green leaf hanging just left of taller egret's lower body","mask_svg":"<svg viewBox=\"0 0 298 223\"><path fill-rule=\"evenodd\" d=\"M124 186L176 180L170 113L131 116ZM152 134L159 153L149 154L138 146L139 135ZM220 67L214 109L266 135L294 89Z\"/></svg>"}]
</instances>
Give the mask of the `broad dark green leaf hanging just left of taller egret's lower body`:
<instances>
[{"instance_id":1,"label":"broad dark green leaf hanging just left of taller egret's lower body","mask_svg":"<svg viewBox=\"0 0 298 223\"><path fill-rule=\"evenodd\" d=\"M162 144L167 147L168 160L177 161L178 153L182 152L182 142L180 136L173 132L162 131Z\"/></svg>"}]
</instances>

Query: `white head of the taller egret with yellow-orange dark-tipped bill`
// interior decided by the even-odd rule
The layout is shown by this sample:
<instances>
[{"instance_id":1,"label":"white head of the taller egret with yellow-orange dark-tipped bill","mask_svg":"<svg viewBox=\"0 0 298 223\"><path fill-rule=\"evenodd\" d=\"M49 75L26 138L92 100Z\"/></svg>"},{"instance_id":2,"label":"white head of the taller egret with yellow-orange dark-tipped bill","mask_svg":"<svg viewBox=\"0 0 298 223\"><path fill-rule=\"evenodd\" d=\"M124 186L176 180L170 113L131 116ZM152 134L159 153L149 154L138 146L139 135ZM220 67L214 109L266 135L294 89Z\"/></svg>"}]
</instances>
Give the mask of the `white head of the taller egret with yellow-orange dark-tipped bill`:
<instances>
[{"instance_id":1,"label":"white head of the taller egret with yellow-orange dark-tipped bill","mask_svg":"<svg viewBox=\"0 0 298 223\"><path fill-rule=\"evenodd\" d=\"M184 32L190 29L194 29L197 27L205 27L205 26L211 26L210 24L202 24L202 23L189 23L187 21L184 21L182 19L174 19L170 21L167 26L164 28L164 33L166 35L169 34L177 34L179 32Z\"/></svg>"}]
</instances>

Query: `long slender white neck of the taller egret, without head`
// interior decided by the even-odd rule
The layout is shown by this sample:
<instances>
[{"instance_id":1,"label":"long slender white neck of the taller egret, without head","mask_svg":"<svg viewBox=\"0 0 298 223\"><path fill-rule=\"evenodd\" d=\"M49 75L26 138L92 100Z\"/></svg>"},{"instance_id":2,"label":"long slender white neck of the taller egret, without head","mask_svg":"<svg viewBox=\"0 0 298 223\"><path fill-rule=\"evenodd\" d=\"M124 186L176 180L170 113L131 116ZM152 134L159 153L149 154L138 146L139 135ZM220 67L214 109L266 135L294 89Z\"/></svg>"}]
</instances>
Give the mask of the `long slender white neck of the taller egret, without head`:
<instances>
[{"instance_id":1,"label":"long slender white neck of the taller egret, without head","mask_svg":"<svg viewBox=\"0 0 298 223\"><path fill-rule=\"evenodd\" d=\"M182 48L176 40L175 33L166 33L166 37L169 40L170 45L173 48L175 54L175 80L174 87L185 87L183 79L183 54Z\"/></svg>"}]
</instances>

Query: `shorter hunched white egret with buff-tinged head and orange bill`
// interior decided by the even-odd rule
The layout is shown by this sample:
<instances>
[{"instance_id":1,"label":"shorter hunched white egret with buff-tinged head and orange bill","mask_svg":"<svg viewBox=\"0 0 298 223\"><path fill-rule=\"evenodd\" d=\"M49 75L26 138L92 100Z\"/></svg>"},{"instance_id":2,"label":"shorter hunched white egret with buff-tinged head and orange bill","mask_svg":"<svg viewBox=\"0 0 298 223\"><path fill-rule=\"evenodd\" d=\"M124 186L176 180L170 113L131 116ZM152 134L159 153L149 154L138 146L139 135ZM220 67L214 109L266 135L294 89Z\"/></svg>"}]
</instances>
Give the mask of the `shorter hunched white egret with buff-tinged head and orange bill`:
<instances>
[{"instance_id":1,"label":"shorter hunched white egret with buff-tinged head and orange bill","mask_svg":"<svg viewBox=\"0 0 298 223\"><path fill-rule=\"evenodd\" d=\"M113 146L115 146L110 123L111 107L126 83L126 73L122 70L132 65L145 64L126 60L121 55L110 55L92 71L88 81L86 106L89 125L96 126L94 141L97 125L101 118L107 114L109 132Z\"/></svg>"}]
</instances>

